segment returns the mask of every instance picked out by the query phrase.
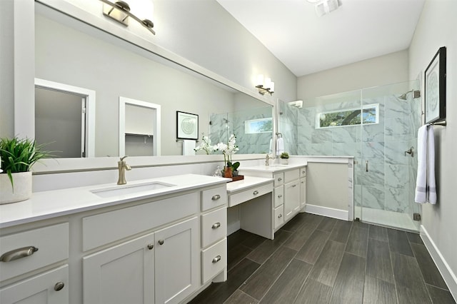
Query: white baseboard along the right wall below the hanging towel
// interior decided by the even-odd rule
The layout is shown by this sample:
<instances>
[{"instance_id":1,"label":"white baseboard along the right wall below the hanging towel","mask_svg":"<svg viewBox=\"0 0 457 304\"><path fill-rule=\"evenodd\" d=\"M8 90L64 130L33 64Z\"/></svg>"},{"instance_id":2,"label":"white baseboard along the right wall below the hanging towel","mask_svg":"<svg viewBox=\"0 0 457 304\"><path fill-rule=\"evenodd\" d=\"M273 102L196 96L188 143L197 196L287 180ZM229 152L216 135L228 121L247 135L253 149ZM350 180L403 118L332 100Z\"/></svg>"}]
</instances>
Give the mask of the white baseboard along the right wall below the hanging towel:
<instances>
[{"instance_id":1,"label":"white baseboard along the right wall below the hanging towel","mask_svg":"<svg viewBox=\"0 0 457 304\"><path fill-rule=\"evenodd\" d=\"M449 291L451 292L454 300L457 301L457 277L456 274L453 273L452 269L449 267L449 264L444 259L443 255L441 255L440 250L435 245L435 242L431 239L430 235L428 234L426 228L421 225L421 238L423 243L426 245L428 252L433 258L436 267L438 268L439 272L443 276L446 285L448 285Z\"/></svg>"}]
</instances>

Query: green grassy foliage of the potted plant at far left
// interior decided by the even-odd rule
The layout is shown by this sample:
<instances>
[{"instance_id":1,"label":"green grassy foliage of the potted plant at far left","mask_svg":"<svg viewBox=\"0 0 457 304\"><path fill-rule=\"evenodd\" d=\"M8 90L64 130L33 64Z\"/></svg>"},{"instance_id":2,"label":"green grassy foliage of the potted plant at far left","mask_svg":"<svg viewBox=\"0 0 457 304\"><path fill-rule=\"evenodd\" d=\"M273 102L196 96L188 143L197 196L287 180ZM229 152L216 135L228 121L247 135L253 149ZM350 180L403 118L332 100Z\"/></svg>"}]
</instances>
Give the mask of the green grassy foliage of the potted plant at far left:
<instances>
[{"instance_id":1,"label":"green grassy foliage of the potted plant at far left","mask_svg":"<svg viewBox=\"0 0 457 304\"><path fill-rule=\"evenodd\" d=\"M11 186L13 177L11 173L30 171L41 158L50 156L48 151L42 151L44 145L36 145L29 138L0 138L1 169L8 174Z\"/></svg>"}]
</instances>

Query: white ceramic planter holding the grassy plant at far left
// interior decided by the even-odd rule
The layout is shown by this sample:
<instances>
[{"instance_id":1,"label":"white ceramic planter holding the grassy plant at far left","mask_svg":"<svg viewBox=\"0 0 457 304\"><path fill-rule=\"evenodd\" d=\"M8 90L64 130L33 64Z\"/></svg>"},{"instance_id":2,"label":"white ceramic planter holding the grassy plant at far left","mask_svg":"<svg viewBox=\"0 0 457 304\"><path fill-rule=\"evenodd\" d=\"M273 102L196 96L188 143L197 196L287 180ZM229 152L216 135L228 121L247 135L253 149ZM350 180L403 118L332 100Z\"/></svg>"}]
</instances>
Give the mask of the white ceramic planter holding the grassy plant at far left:
<instances>
[{"instance_id":1,"label":"white ceramic planter holding the grassy plant at far left","mask_svg":"<svg viewBox=\"0 0 457 304\"><path fill-rule=\"evenodd\" d=\"M31 197L31 172L13 173L14 189L6 173L0 174L0 205L25 201Z\"/></svg>"}]
</instances>

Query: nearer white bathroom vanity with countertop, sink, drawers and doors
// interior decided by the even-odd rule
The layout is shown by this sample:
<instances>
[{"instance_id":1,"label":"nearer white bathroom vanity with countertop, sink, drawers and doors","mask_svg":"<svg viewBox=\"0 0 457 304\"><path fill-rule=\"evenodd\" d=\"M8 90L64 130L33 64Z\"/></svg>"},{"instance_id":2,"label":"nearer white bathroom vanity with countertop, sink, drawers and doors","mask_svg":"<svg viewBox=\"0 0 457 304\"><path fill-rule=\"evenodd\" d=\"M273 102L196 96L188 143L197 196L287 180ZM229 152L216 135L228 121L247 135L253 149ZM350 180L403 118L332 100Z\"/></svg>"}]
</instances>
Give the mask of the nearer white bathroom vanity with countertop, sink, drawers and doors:
<instances>
[{"instance_id":1,"label":"nearer white bathroom vanity with countertop, sink, drawers and doors","mask_svg":"<svg viewBox=\"0 0 457 304\"><path fill-rule=\"evenodd\" d=\"M186 174L0 206L1 303L180 303L226 280L226 181Z\"/></svg>"}]
</instances>

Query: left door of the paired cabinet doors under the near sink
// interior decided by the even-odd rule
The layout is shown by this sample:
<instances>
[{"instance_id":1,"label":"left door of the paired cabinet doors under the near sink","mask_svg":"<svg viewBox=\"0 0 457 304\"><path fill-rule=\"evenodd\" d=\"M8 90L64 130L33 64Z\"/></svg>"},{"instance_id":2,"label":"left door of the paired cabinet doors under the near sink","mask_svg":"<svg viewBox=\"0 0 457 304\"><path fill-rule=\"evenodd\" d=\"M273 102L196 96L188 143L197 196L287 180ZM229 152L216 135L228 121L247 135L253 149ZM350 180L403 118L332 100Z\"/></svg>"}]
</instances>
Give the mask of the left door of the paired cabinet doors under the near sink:
<instances>
[{"instance_id":1,"label":"left door of the paired cabinet doors under the near sink","mask_svg":"<svg viewBox=\"0 0 457 304\"><path fill-rule=\"evenodd\" d=\"M84 303L154 303L154 233L83 258Z\"/></svg>"}]
</instances>

